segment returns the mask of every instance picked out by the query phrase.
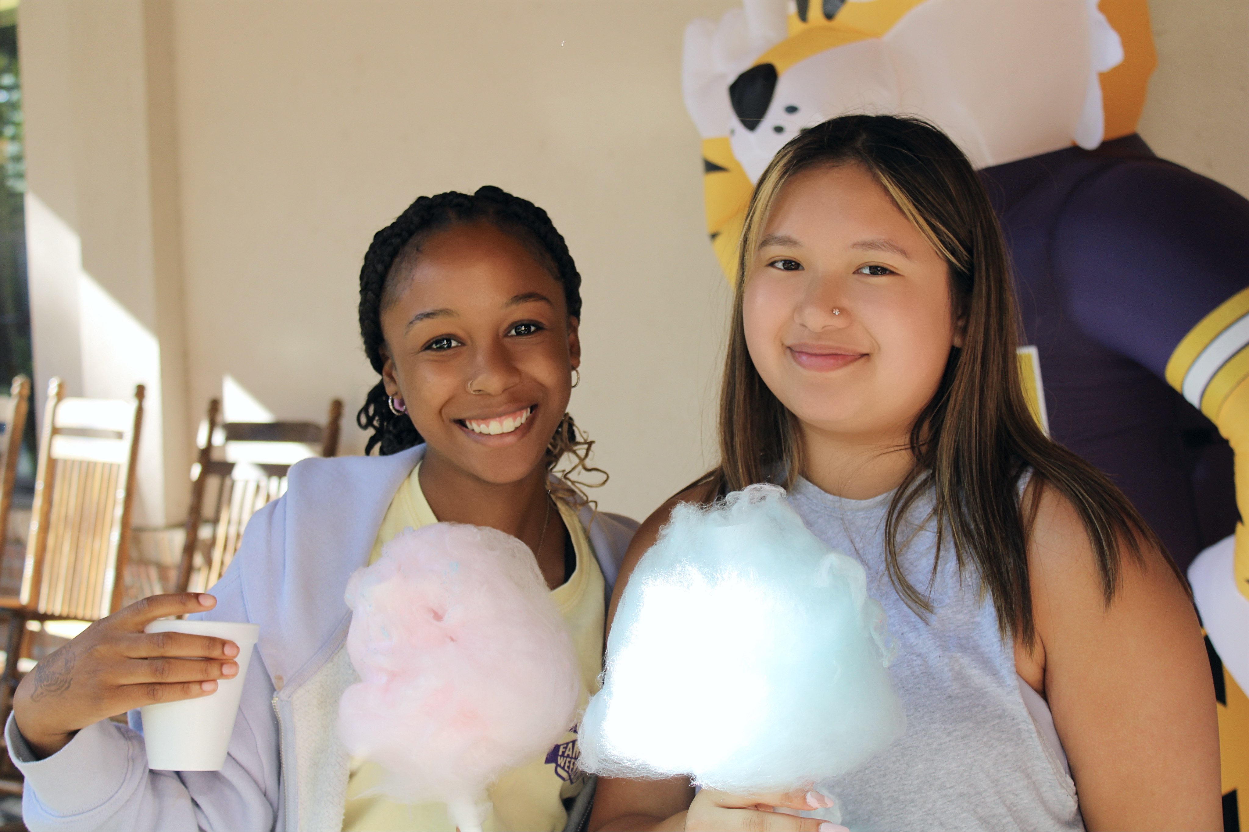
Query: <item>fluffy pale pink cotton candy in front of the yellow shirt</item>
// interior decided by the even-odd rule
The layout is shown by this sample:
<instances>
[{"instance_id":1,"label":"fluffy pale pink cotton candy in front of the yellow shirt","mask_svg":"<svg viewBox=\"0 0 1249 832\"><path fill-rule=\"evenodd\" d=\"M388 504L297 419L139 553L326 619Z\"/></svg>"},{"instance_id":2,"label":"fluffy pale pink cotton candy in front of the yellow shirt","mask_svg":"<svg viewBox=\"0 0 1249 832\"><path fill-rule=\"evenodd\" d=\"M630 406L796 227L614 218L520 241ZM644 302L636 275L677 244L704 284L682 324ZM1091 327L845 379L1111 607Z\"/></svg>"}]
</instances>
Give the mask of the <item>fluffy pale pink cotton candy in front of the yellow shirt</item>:
<instances>
[{"instance_id":1,"label":"fluffy pale pink cotton candy in front of the yellow shirt","mask_svg":"<svg viewBox=\"0 0 1249 832\"><path fill-rule=\"evenodd\" d=\"M347 583L338 735L387 772L380 791L445 801L462 830L505 770L546 752L576 717L572 640L530 549L456 523L407 530Z\"/></svg>"}]
</instances>

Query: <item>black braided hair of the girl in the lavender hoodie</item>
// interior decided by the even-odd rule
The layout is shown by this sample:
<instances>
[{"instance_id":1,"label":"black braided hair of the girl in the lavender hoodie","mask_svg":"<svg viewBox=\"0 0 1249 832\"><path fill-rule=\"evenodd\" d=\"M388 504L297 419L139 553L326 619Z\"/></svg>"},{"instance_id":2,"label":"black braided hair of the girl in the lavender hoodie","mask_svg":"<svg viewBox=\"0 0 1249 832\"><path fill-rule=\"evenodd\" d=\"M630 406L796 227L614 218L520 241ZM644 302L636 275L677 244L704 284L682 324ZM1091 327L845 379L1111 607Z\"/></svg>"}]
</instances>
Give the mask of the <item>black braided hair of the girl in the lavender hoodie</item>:
<instances>
[{"instance_id":1,"label":"black braided hair of the girl in the lavender hoodie","mask_svg":"<svg viewBox=\"0 0 1249 832\"><path fill-rule=\"evenodd\" d=\"M433 232L471 222L488 222L530 248L563 287L568 314L581 317L581 274L568 253L568 244L546 211L492 185L478 188L471 196L447 191L432 197L417 197L395 222L373 235L360 268L360 337L365 343L365 356L377 373L386 363L381 313L388 306L388 293L403 277L395 273L398 271L396 263L406 263L411 247ZM422 442L406 414L391 412L390 397L381 380L368 390L365 405L356 414L356 424L363 430L372 430L365 453L377 448L380 454L387 455ZM550 459L550 455L548 465L555 465L558 458Z\"/></svg>"}]
</instances>

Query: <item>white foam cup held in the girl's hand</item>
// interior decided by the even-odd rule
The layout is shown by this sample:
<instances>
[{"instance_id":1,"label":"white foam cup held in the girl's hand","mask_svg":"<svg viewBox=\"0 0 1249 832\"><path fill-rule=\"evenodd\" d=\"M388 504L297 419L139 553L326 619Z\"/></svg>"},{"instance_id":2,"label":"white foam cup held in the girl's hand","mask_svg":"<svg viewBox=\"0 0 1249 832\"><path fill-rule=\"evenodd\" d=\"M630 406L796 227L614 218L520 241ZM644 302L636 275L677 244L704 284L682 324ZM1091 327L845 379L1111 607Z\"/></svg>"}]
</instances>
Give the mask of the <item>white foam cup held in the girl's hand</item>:
<instances>
[{"instance_id":1,"label":"white foam cup held in the girl's hand","mask_svg":"<svg viewBox=\"0 0 1249 832\"><path fill-rule=\"evenodd\" d=\"M251 664L251 649L260 626L236 621L161 620L149 624L145 632L190 632L215 636L239 645L239 672L234 679L219 679L217 690L207 696L177 702L145 705L144 742L147 767L170 771L220 771L226 763L230 735L234 733L242 680Z\"/></svg>"}]
</instances>

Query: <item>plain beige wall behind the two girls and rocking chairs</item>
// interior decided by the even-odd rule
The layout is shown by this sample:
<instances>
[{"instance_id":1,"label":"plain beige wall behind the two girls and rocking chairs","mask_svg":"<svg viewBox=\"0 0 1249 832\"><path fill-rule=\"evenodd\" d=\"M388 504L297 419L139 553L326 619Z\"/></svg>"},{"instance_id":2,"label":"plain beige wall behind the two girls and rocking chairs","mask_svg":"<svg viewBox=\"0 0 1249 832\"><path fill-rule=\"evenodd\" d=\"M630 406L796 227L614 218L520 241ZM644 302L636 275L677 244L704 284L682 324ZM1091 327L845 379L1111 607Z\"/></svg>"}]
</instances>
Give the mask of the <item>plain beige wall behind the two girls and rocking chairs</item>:
<instances>
[{"instance_id":1,"label":"plain beige wall behind the two girls and rocking chairs","mask_svg":"<svg viewBox=\"0 0 1249 832\"><path fill-rule=\"evenodd\" d=\"M36 382L146 382L142 520L177 520L224 379L235 418L353 414L371 235L417 195L495 183L568 238L571 409L612 473L602 505L643 516L712 460L728 292L679 62L686 22L734 5L24 0ZM1249 193L1249 4L1150 7L1143 135Z\"/></svg>"}]
</instances>

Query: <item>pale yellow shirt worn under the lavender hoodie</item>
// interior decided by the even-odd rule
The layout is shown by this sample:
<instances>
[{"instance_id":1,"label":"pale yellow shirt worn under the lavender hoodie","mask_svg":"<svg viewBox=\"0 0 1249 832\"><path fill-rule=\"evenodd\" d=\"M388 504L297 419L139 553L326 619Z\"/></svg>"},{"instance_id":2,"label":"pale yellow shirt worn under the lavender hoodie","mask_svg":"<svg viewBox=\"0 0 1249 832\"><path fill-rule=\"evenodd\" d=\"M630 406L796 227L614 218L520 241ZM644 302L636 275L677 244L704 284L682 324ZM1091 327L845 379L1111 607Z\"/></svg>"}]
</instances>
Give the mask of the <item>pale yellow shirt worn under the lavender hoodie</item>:
<instances>
[{"instance_id":1,"label":"pale yellow shirt worn under the lavender hoodie","mask_svg":"<svg viewBox=\"0 0 1249 832\"><path fill-rule=\"evenodd\" d=\"M391 500L382 525L377 530L373 550L368 555L370 564L381 558L382 546L403 529L418 529L438 521L421 491L417 478L420 470L418 464ZM556 500L555 504L560 509L577 555L572 576L551 591L551 600L563 614L577 651L582 682L581 701L577 705L580 711L598 691L598 674L603 662L605 584L586 529L581 525L576 511L561 500ZM487 792L492 808L482 828L562 830L567 822L563 801L576 797L585 785L585 776L575 766L578 756L577 726L572 726L546 755L503 772ZM447 816L446 803L411 806L381 795L367 795L381 781L381 775L377 763L351 761L343 830L415 832L456 828Z\"/></svg>"}]
</instances>

